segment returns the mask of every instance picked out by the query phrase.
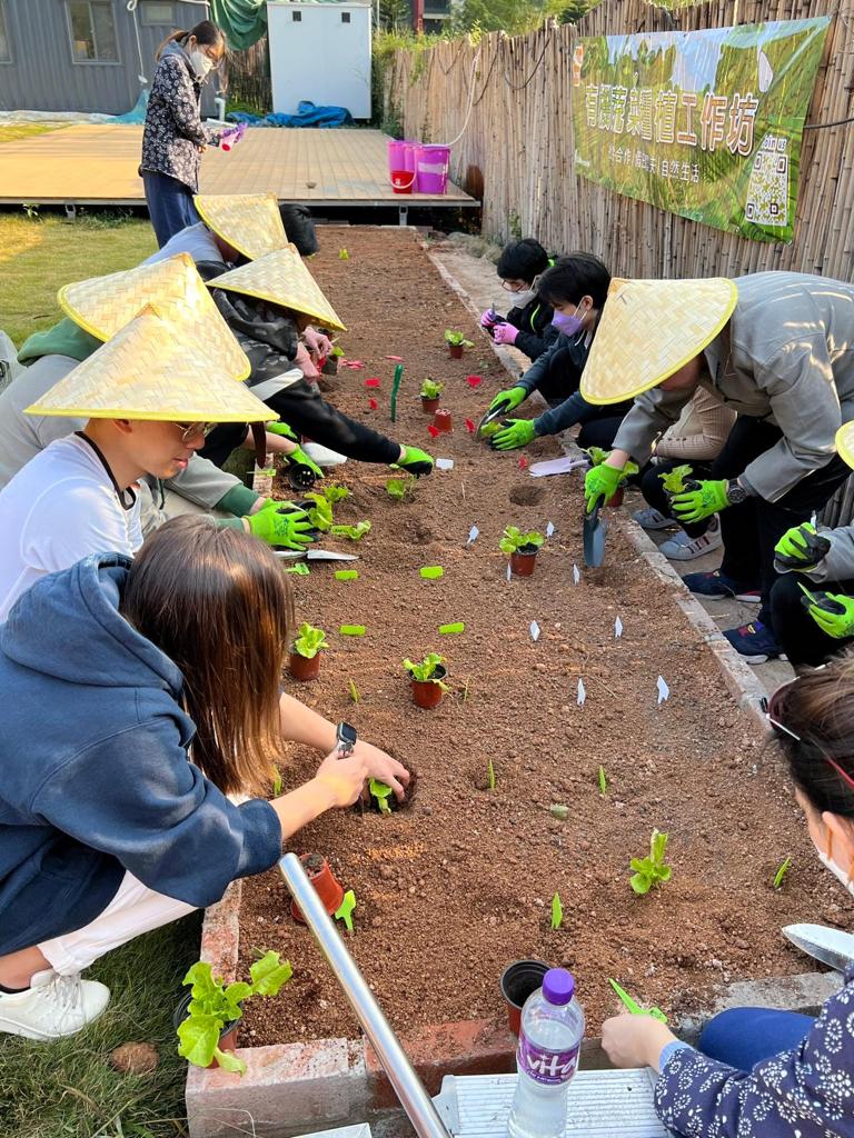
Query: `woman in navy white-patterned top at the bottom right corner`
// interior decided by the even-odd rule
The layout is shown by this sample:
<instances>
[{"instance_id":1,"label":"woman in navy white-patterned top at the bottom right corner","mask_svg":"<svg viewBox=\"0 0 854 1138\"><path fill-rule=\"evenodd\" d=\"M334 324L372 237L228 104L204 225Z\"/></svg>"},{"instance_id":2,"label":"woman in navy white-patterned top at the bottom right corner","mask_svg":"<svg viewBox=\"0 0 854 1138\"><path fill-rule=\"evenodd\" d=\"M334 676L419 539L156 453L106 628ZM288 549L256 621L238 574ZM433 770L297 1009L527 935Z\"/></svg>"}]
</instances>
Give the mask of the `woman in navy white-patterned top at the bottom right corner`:
<instances>
[{"instance_id":1,"label":"woman in navy white-patterned top at the bottom right corner","mask_svg":"<svg viewBox=\"0 0 854 1138\"><path fill-rule=\"evenodd\" d=\"M778 688L769 720L822 864L854 892L854 660ZM854 1135L854 966L813 1019L771 1008L715 1016L695 1049L648 1015L602 1024L618 1067L658 1072L655 1108L674 1135L837 1138Z\"/></svg>"}]
</instances>

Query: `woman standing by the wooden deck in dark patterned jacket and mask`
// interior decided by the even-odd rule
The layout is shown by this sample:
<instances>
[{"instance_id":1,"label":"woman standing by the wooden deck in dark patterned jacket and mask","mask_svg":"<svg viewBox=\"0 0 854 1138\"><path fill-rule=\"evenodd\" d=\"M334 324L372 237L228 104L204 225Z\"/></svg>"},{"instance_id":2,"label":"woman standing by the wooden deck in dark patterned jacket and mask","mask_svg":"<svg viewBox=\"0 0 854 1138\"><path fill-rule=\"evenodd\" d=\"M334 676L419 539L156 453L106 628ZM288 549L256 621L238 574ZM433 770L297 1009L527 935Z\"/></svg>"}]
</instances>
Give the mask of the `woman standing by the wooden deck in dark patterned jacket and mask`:
<instances>
[{"instance_id":1,"label":"woman standing by the wooden deck in dark patterned jacket and mask","mask_svg":"<svg viewBox=\"0 0 854 1138\"><path fill-rule=\"evenodd\" d=\"M205 148L220 140L219 131L202 125L202 88L224 55L225 36L210 19L173 32L157 51L139 173L161 248L199 221L192 204L199 163Z\"/></svg>"}]
</instances>

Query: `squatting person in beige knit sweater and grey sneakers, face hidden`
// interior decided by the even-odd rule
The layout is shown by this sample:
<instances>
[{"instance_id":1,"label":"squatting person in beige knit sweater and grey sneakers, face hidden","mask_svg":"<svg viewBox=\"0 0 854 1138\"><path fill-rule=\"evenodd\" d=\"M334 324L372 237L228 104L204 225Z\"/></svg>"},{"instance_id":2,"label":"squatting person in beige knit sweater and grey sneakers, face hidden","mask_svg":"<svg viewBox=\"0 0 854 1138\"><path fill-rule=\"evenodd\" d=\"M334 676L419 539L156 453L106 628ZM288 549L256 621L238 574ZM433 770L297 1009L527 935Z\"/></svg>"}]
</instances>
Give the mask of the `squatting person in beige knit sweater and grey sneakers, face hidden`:
<instances>
[{"instance_id":1,"label":"squatting person in beige knit sweater and grey sneakers, face hidden","mask_svg":"<svg viewBox=\"0 0 854 1138\"><path fill-rule=\"evenodd\" d=\"M662 476L688 464L688 478L708 478L712 462L723 450L734 421L734 411L725 407L711 391L697 388L679 422L656 444L649 465L641 471L640 488L649 505L646 510L635 510L633 517L644 529L676 529L673 537L658 546L658 552L671 561L692 561L720 549L721 519L712 514L703 521L681 526L671 514Z\"/></svg>"}]
</instances>

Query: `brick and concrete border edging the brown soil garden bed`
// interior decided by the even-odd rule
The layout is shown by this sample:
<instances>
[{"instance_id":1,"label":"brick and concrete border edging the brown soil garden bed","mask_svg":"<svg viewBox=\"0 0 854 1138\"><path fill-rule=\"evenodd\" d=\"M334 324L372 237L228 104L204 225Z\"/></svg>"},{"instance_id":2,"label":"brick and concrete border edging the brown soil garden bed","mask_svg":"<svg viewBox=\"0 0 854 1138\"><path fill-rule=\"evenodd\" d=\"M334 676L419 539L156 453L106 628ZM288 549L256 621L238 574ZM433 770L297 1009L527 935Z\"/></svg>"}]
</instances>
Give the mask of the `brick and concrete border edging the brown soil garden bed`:
<instances>
[{"instance_id":1,"label":"brick and concrete border edging the brown soil garden bed","mask_svg":"<svg viewBox=\"0 0 854 1138\"><path fill-rule=\"evenodd\" d=\"M447 269L434 257L430 261L466 307L477 314L468 294ZM501 347L492 347L515 378L518 369L509 354ZM261 485L257 489L262 490ZM266 485L263 492L269 493ZM752 669L738 658L643 530L625 513L616 514L616 525L639 560L647 562L673 594L699 637L708 644L739 707L766 734L769 728L761 706L764 690ZM237 968L239 907L238 881L219 905L207 910L202 931L202 959L208 960L215 973L227 979L235 979ZM682 1038L696 1038L703 1021L726 1007L758 1005L808 1012L820 1007L839 984L840 978L834 973L810 972L708 989L703 1000L707 1012L679 1024L678 1031ZM445 1074L494 1074L514 1070L516 1039L491 1021L442 1023L425 1028L402 1042L433 1095L438 1092ZM371 1047L362 1039L241 1047L238 1054L247 1063L243 1078L219 1069L189 1069L186 1100L191 1138L235 1138L243 1133L257 1138L289 1138L366 1121L370 1122L375 1135L401 1132L403 1115L394 1092ZM588 1069L608 1065L598 1039L585 1040L582 1062Z\"/></svg>"}]
</instances>

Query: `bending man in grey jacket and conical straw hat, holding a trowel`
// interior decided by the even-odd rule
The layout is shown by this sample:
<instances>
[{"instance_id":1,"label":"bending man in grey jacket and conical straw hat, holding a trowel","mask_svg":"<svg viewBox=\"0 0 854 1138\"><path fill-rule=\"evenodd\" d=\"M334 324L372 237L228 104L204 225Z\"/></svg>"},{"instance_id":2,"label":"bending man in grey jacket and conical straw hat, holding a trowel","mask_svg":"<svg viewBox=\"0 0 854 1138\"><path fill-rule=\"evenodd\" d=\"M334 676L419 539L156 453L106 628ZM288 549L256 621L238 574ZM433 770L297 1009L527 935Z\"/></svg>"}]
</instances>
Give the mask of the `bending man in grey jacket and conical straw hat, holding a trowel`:
<instances>
[{"instance_id":1,"label":"bending man in grey jacket and conical straw hat, holding a trowel","mask_svg":"<svg viewBox=\"0 0 854 1138\"><path fill-rule=\"evenodd\" d=\"M635 402L614 450L588 471L588 510L610 496L630 459L649 460L698 387L738 419L709 478L673 498L680 522L721 517L721 568L682 579L709 601L759 603L758 619L724 635L762 663L781 652L770 609L774 546L848 476L835 436L854 417L854 284L789 272L613 281L581 393L591 403Z\"/></svg>"}]
</instances>

